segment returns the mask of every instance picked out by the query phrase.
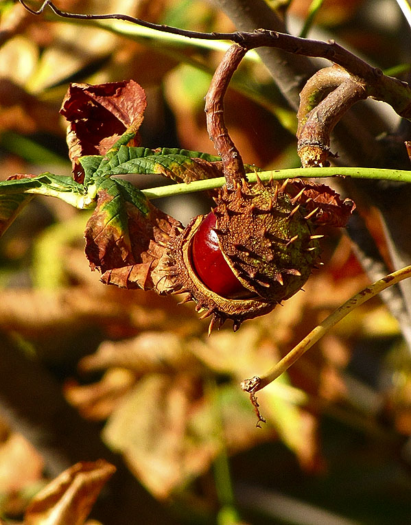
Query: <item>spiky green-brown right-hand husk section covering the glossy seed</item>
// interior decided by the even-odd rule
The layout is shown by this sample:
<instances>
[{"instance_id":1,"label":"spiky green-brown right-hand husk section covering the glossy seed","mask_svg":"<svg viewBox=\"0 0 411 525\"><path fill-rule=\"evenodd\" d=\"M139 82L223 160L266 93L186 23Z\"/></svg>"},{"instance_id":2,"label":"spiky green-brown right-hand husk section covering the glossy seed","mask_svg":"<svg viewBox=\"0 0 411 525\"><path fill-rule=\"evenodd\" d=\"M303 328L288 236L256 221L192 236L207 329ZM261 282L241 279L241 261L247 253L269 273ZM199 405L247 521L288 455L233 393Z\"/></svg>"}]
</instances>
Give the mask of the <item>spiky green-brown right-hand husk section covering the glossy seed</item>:
<instances>
[{"instance_id":1,"label":"spiky green-brown right-hand husk section covering the glossy seed","mask_svg":"<svg viewBox=\"0 0 411 525\"><path fill-rule=\"evenodd\" d=\"M224 188L216 199L215 231L239 281L273 303L289 299L307 281L320 245L307 211L291 198L287 184Z\"/></svg>"}]
</instances>

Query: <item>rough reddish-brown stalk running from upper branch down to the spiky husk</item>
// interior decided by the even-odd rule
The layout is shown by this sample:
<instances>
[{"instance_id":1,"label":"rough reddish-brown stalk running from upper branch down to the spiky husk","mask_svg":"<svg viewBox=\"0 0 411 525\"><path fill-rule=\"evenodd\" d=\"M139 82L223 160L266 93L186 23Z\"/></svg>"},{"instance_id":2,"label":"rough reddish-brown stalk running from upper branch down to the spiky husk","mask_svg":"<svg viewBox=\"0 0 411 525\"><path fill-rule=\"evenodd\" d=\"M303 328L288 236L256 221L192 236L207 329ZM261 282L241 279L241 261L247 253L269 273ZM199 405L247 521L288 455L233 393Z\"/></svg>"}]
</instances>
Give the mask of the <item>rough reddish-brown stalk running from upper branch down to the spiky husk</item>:
<instances>
[{"instance_id":1,"label":"rough reddish-brown stalk running from upper branch down to the spiky husk","mask_svg":"<svg viewBox=\"0 0 411 525\"><path fill-rule=\"evenodd\" d=\"M232 45L224 54L220 65L215 70L209 91L205 97L205 112L207 115L207 130L214 143L215 150L221 156L226 185L232 189L235 183L246 180L246 170L239 151L235 147L224 123L224 95L231 77L237 69L247 49L240 45Z\"/></svg>"}]
</instances>

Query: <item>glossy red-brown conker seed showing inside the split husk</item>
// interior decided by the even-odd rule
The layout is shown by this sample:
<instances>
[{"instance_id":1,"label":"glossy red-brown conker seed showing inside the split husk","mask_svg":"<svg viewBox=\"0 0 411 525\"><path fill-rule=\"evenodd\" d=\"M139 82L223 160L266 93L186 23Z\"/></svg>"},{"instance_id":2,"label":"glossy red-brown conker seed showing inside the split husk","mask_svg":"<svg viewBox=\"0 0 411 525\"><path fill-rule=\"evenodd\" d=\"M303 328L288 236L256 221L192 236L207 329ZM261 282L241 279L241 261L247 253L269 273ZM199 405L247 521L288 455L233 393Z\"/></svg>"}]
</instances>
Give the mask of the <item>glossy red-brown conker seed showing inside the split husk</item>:
<instances>
[{"instance_id":1,"label":"glossy red-brown conker seed showing inside the split husk","mask_svg":"<svg viewBox=\"0 0 411 525\"><path fill-rule=\"evenodd\" d=\"M215 294L228 299L250 295L228 266L215 233L215 215L211 211L198 227L191 241L193 268L200 279Z\"/></svg>"}]
</instances>

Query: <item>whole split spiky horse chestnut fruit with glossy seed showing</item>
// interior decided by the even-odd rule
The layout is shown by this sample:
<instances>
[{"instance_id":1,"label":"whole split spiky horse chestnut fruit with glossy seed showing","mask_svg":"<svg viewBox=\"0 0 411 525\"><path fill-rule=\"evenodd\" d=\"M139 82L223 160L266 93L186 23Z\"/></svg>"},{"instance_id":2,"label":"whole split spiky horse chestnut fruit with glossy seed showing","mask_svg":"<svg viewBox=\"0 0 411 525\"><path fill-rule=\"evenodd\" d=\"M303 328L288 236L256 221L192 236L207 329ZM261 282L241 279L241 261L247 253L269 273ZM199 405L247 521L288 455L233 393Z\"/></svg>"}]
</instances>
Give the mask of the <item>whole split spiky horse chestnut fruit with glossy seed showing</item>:
<instances>
[{"instance_id":1,"label":"whole split spiky horse chestnut fruit with glossy seed showing","mask_svg":"<svg viewBox=\"0 0 411 525\"><path fill-rule=\"evenodd\" d=\"M187 292L202 318L236 330L270 312L307 281L320 255L319 224L344 226L353 209L329 187L244 180L222 187L216 207L174 229L163 266L169 288Z\"/></svg>"}]
</instances>

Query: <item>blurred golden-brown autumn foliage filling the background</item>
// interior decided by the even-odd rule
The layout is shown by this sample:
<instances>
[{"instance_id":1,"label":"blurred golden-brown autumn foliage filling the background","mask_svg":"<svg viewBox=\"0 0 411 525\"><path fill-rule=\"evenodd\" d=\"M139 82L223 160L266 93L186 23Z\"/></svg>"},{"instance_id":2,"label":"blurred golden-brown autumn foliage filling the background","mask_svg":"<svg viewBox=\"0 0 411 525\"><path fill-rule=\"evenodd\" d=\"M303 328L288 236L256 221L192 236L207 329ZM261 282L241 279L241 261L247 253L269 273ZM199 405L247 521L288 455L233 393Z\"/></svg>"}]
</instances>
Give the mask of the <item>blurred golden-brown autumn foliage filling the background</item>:
<instances>
[{"instance_id":1,"label":"blurred golden-brown autumn foliage filling the background","mask_svg":"<svg viewBox=\"0 0 411 525\"><path fill-rule=\"evenodd\" d=\"M287 12L294 34L301 31L309 0L267 1ZM56 3L71 12L234 30L218 2ZM213 153L203 99L222 56L215 43L32 16L12 1L0 2L0 14L1 180L70 173L58 115L69 82L133 78L148 95L143 145ZM325 0L308 34L332 36L378 67L408 69L410 30L394 0ZM226 123L247 163L298 165L296 115L252 54L226 97ZM138 183L163 181L141 176ZM210 202L197 195L156 205L187 222ZM377 212L364 215L384 250ZM237 334L224 327L207 338L207 321L192 305L177 307L181 297L99 282L83 253L87 217L36 198L1 239L3 518L19 519L47 480L94 455L126 465L123 482L133 487L120 498L121 476L113 477L106 506L92 513L107 525L409 521L410 349L380 301L351 314L259 393L263 428L255 428L239 388L368 282L347 237L328 232L325 267L305 292Z\"/></svg>"}]
</instances>

